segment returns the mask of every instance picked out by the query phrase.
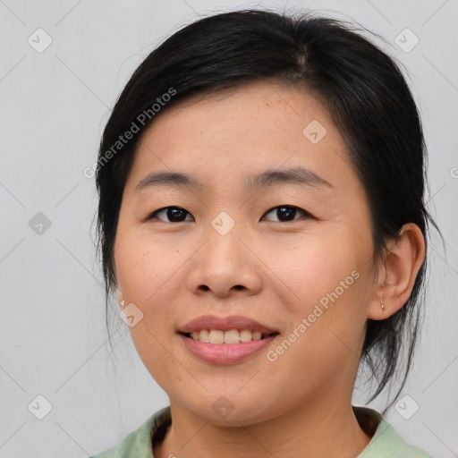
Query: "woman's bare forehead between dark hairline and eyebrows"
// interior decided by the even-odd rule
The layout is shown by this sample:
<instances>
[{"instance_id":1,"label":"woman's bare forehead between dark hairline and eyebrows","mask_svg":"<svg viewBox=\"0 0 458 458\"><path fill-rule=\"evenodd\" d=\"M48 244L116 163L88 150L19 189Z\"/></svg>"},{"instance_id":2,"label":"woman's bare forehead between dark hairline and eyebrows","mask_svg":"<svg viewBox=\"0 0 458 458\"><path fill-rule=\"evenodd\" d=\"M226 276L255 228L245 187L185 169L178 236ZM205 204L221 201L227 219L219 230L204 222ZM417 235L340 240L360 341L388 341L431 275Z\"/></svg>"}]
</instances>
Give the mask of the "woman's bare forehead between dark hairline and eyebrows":
<instances>
[{"instance_id":1,"label":"woman's bare forehead between dark hairline and eyebrows","mask_svg":"<svg viewBox=\"0 0 458 458\"><path fill-rule=\"evenodd\" d=\"M344 139L318 98L255 82L179 102L158 115L140 140L130 185L133 191L152 171L179 171L204 185L246 186L253 182L249 175L298 167L337 189L357 180Z\"/></svg>"}]
</instances>

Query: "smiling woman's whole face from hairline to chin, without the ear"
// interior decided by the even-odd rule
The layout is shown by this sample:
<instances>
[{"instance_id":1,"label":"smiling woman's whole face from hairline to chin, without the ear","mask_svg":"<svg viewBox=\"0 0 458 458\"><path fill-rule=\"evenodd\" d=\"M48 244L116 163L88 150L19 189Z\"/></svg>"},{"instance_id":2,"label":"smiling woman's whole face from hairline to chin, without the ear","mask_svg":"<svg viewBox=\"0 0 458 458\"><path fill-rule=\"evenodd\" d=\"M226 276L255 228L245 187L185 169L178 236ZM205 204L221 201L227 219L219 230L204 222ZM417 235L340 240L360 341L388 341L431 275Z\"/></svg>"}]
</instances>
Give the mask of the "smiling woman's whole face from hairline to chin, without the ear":
<instances>
[{"instance_id":1,"label":"smiling woman's whole face from hairline to chin, without the ear","mask_svg":"<svg viewBox=\"0 0 458 458\"><path fill-rule=\"evenodd\" d=\"M191 181L152 176L172 173ZM256 82L194 99L142 137L116 280L140 358L177 409L248 425L349 403L375 301L372 257L344 139L303 90ZM224 332L234 328L245 331ZM191 329L203 342L181 334ZM214 344L241 336L251 341Z\"/></svg>"}]
</instances>

